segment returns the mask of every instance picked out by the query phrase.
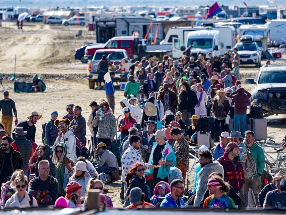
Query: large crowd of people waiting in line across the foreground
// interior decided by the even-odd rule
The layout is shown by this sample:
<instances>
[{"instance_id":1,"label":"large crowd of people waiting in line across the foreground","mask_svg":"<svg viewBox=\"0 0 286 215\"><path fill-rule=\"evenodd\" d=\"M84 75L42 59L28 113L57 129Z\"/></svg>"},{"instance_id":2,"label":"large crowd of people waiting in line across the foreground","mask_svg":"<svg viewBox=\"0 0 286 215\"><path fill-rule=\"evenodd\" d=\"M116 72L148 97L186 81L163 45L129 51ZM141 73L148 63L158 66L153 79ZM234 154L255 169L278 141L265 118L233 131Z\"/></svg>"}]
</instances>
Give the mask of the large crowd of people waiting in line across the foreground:
<instances>
[{"instance_id":1,"label":"large crowd of people waiting in line across the foreground","mask_svg":"<svg viewBox=\"0 0 286 215\"><path fill-rule=\"evenodd\" d=\"M119 179L119 162L122 186L116 200L126 209L286 206L286 172L279 171L272 182L264 171L263 150L255 142L255 133L246 130L250 93L240 82L239 56L234 51L226 57L220 62L211 53L198 53L175 61L169 56L162 61L150 56L136 62L129 70L126 98L113 103L111 82L104 85L108 92L113 89L106 94L108 101L92 101L87 122L80 105L68 104L67 114L60 119L53 110L51 120L43 125L42 145L35 143L35 124L41 114L33 111L28 120L18 123L15 102L5 91L0 101L0 206L81 207L91 201L88 191L98 189L101 207L113 208L114 199L106 195L105 184ZM122 108L118 125L114 105ZM227 131L232 106L234 128ZM194 189L185 199L189 146L196 144L198 120L210 111L219 143L212 150L205 145L198 149ZM86 156L86 126L91 133L92 160Z\"/></svg>"}]
</instances>

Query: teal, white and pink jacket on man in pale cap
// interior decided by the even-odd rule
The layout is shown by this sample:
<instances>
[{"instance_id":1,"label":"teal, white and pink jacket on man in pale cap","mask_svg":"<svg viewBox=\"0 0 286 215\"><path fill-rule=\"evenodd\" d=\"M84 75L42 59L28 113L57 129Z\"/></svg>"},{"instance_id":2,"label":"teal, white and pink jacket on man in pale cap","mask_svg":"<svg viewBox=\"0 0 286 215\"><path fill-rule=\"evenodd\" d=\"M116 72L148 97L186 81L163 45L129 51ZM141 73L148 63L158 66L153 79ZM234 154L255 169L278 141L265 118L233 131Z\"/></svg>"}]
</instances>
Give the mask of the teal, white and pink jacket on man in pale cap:
<instances>
[{"instance_id":1,"label":"teal, white and pink jacket on man in pale cap","mask_svg":"<svg viewBox=\"0 0 286 215\"><path fill-rule=\"evenodd\" d=\"M150 158L149 158L149 164L153 164L153 153L155 148L158 146L158 144L155 144L152 148L151 154L150 154ZM162 152L162 160L166 160L166 161L172 161L172 165L171 166L167 166L165 164L162 164L162 166L158 169L158 178L165 178L168 175L170 175L171 172L171 167L176 166L176 156L174 153L174 150L172 148L172 146L170 144L166 144L163 152ZM153 174L154 169L149 169L149 173Z\"/></svg>"}]
</instances>

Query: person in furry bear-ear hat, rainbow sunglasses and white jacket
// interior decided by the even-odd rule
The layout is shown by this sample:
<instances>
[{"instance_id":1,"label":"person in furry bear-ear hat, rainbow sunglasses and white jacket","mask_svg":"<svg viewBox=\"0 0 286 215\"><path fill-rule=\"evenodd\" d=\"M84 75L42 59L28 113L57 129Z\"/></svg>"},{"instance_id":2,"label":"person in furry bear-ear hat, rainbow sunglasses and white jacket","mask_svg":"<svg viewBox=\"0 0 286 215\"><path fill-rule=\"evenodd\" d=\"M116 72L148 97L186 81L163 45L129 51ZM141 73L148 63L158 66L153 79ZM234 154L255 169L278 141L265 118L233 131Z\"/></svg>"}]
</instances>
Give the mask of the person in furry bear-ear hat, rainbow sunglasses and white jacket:
<instances>
[{"instance_id":1,"label":"person in furry bear-ear hat, rainbow sunglasses and white jacket","mask_svg":"<svg viewBox=\"0 0 286 215\"><path fill-rule=\"evenodd\" d=\"M76 149L76 138L71 130L69 130L69 124L71 121L69 119L56 119L54 122L55 126L59 130L57 140L54 144L55 146L62 142L66 144L67 152L66 156L71 158L73 161L77 160L77 149Z\"/></svg>"}]
</instances>

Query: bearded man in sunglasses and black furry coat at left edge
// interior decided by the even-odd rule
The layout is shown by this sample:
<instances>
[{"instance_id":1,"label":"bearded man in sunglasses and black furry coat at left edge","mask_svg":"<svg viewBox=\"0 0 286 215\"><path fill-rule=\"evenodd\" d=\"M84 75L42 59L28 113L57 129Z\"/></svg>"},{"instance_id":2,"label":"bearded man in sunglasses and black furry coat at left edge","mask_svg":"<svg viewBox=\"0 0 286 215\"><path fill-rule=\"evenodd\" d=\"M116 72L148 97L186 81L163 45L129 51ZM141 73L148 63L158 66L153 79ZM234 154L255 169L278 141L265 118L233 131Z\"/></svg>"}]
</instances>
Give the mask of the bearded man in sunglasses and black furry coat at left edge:
<instances>
[{"instance_id":1,"label":"bearded man in sunglasses and black furry coat at left edge","mask_svg":"<svg viewBox=\"0 0 286 215\"><path fill-rule=\"evenodd\" d=\"M16 169L23 168L23 158L20 152L12 147L13 139L10 136L2 137L0 147L0 184L6 183Z\"/></svg>"}]
</instances>

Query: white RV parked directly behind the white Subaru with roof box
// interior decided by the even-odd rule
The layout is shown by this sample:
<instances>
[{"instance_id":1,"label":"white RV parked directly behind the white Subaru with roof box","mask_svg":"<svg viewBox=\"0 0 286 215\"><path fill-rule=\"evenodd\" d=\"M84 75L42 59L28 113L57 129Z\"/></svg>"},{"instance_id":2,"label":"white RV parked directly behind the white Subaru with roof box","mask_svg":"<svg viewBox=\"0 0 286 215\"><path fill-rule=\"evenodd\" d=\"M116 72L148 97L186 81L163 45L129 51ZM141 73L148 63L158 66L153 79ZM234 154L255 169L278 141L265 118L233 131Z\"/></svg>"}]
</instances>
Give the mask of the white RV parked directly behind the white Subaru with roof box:
<instances>
[{"instance_id":1,"label":"white RV parked directly behind the white Subaru with roof box","mask_svg":"<svg viewBox=\"0 0 286 215\"><path fill-rule=\"evenodd\" d=\"M267 25L241 25L239 27L239 37L241 38L243 35L252 35L254 41L259 46L259 50L262 53L268 48L268 26Z\"/></svg>"}]
</instances>

